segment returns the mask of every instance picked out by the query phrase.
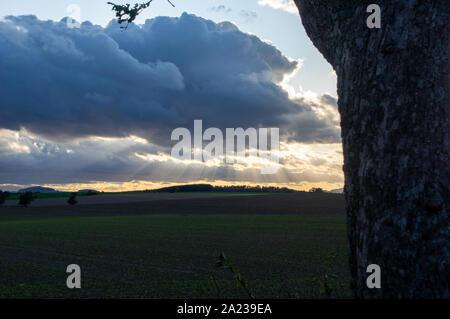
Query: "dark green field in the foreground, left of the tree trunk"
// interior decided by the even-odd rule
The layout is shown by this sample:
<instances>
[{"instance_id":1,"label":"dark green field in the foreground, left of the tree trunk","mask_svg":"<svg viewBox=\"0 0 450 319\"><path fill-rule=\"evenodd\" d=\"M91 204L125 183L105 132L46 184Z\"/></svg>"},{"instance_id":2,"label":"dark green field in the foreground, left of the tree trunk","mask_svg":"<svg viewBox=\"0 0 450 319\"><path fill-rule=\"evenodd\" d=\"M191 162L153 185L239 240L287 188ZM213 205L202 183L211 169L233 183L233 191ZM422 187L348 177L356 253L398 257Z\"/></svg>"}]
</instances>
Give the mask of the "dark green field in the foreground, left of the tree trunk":
<instances>
[{"instance_id":1,"label":"dark green field in the foreground, left of the tree trunk","mask_svg":"<svg viewBox=\"0 0 450 319\"><path fill-rule=\"evenodd\" d=\"M0 298L350 297L344 217L0 217ZM66 288L78 264L82 289ZM328 276L328 280L325 279ZM215 278L216 284L212 280Z\"/></svg>"}]
</instances>

